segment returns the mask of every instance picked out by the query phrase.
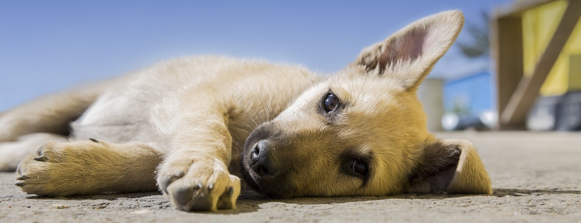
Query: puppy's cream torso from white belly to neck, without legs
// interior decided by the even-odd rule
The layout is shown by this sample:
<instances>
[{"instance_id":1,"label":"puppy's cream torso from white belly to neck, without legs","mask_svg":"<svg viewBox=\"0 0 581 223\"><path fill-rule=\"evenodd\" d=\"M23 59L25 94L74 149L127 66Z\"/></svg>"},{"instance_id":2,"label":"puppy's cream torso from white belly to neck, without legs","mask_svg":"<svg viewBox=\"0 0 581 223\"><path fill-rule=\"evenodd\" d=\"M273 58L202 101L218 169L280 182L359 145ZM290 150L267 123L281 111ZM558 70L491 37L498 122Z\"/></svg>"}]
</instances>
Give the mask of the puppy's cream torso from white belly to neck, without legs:
<instances>
[{"instance_id":1,"label":"puppy's cream torso from white belly to neck, without legs","mask_svg":"<svg viewBox=\"0 0 581 223\"><path fill-rule=\"evenodd\" d=\"M195 103L209 98L229 106L233 115L245 113L266 121L315 78L301 67L229 57L169 60L131 74L123 84L107 89L73 123L73 135L118 143L161 142L159 135L171 126L167 116L173 116L184 103L192 103L189 109L195 109Z\"/></svg>"}]
</instances>

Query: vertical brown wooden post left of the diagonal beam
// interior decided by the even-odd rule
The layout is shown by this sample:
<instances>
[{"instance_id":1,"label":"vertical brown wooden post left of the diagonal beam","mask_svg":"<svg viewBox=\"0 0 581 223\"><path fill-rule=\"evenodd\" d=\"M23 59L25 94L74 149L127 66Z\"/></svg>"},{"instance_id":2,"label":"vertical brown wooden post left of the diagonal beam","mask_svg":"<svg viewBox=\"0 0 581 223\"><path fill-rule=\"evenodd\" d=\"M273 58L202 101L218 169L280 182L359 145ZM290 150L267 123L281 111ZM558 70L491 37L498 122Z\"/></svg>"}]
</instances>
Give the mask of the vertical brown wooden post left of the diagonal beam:
<instances>
[{"instance_id":1,"label":"vertical brown wooden post left of the diagonal beam","mask_svg":"<svg viewBox=\"0 0 581 223\"><path fill-rule=\"evenodd\" d=\"M490 49L496 72L497 114L501 114L508 100L517 89L523 74L523 44L521 17L499 17L494 19L490 27ZM502 123L501 130L520 127L507 127Z\"/></svg>"}]
</instances>

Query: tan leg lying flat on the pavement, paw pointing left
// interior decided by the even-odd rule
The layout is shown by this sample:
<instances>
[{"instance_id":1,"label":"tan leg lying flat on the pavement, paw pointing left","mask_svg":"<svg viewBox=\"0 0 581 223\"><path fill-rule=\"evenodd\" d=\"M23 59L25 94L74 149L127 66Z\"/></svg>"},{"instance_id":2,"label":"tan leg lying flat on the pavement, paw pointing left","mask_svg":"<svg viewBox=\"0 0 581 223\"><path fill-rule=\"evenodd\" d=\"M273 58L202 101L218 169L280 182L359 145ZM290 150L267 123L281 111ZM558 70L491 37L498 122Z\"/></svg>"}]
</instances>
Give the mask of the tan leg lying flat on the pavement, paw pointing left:
<instances>
[{"instance_id":1,"label":"tan leg lying flat on the pavement, paw pointing left","mask_svg":"<svg viewBox=\"0 0 581 223\"><path fill-rule=\"evenodd\" d=\"M41 196L157 190L158 150L144 143L47 142L16 169L15 185Z\"/></svg>"}]
</instances>

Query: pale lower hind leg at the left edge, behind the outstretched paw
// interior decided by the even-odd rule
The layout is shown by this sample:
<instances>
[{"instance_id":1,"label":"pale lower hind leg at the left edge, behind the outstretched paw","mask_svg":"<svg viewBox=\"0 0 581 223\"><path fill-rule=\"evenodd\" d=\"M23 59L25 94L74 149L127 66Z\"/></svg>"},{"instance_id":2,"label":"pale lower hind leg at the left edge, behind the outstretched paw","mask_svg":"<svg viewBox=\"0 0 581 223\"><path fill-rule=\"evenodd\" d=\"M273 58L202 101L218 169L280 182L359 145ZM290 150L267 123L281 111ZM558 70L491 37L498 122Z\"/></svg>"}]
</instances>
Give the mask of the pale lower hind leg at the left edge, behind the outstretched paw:
<instances>
[{"instance_id":1,"label":"pale lower hind leg at the left edge, behind the outstretched paw","mask_svg":"<svg viewBox=\"0 0 581 223\"><path fill-rule=\"evenodd\" d=\"M0 142L0 171L14 171L26 154L48 141L66 141L66 136L39 132L20 136L14 142Z\"/></svg>"}]
</instances>

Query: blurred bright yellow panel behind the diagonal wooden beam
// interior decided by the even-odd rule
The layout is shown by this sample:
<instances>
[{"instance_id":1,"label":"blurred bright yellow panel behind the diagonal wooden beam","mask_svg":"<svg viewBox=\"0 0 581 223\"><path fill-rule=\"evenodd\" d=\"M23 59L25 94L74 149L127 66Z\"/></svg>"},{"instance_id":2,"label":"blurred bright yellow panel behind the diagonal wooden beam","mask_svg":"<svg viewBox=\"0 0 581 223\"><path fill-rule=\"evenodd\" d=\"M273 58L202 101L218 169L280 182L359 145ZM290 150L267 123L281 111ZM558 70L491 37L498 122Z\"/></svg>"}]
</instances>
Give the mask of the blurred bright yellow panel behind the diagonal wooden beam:
<instances>
[{"instance_id":1,"label":"blurred bright yellow panel behind the diagonal wooden beam","mask_svg":"<svg viewBox=\"0 0 581 223\"><path fill-rule=\"evenodd\" d=\"M553 37L566 6L567 1L559 0L522 14L524 75L532 75L535 64ZM581 22L576 24L557 62L548 74L540 89L541 95L562 95L569 91L581 90L579 77L581 71L577 70L581 60L575 55L581 55Z\"/></svg>"}]
</instances>

